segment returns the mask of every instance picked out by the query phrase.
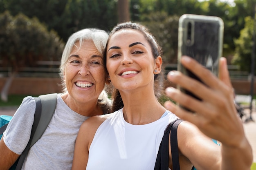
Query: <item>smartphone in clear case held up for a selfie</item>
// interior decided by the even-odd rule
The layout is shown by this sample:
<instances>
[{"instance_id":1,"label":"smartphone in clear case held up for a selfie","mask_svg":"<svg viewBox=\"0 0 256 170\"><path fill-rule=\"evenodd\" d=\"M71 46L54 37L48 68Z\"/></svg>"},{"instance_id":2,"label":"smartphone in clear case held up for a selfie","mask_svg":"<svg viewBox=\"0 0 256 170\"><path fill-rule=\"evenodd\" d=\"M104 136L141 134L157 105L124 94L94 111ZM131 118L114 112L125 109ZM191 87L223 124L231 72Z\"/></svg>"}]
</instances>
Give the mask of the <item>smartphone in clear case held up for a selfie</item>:
<instances>
[{"instance_id":1,"label":"smartphone in clear case held up for a selfie","mask_svg":"<svg viewBox=\"0 0 256 170\"><path fill-rule=\"evenodd\" d=\"M222 55L223 29L224 23L219 17L193 14L182 15L179 19L177 70L202 82L180 63L181 57L186 55L197 60L218 76L219 59ZM180 86L177 86L177 88L183 93L201 100L193 92L187 91Z\"/></svg>"}]
</instances>

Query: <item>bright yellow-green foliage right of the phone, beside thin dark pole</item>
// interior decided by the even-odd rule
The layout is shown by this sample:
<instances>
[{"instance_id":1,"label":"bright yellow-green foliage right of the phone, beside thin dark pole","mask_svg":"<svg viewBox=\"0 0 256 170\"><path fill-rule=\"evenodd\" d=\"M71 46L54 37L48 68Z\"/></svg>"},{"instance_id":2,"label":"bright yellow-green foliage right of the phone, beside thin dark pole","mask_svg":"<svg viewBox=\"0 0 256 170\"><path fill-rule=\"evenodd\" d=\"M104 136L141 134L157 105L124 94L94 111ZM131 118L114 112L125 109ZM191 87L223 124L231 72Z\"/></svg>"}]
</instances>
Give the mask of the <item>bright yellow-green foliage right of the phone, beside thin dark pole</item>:
<instances>
[{"instance_id":1,"label":"bright yellow-green foliage right of the phone, beside thin dark pole","mask_svg":"<svg viewBox=\"0 0 256 170\"><path fill-rule=\"evenodd\" d=\"M240 37L235 41L236 53L232 60L232 64L240 66L241 71L250 72L253 34L255 30L254 19L250 16L245 18L245 28L240 31Z\"/></svg>"}]
</instances>

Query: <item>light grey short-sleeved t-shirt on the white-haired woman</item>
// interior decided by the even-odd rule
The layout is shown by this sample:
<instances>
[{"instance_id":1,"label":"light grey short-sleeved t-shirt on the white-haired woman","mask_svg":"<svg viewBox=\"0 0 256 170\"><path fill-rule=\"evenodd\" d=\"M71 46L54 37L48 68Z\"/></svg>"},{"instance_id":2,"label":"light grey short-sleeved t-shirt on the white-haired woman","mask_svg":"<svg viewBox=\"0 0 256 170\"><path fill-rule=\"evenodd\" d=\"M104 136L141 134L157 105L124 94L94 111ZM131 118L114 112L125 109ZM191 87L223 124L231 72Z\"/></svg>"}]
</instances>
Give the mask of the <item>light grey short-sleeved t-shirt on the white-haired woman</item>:
<instances>
[{"instance_id":1,"label":"light grey short-sleeved t-shirt on the white-haired woman","mask_svg":"<svg viewBox=\"0 0 256 170\"><path fill-rule=\"evenodd\" d=\"M25 97L4 132L4 143L21 154L30 138L36 102ZM56 110L42 137L30 148L22 170L70 170L77 133L89 117L71 110L58 94Z\"/></svg>"}]
</instances>

